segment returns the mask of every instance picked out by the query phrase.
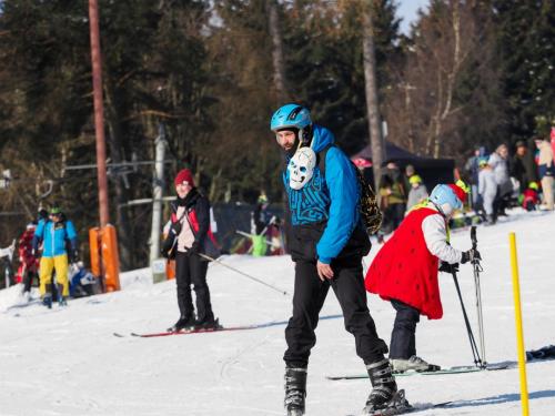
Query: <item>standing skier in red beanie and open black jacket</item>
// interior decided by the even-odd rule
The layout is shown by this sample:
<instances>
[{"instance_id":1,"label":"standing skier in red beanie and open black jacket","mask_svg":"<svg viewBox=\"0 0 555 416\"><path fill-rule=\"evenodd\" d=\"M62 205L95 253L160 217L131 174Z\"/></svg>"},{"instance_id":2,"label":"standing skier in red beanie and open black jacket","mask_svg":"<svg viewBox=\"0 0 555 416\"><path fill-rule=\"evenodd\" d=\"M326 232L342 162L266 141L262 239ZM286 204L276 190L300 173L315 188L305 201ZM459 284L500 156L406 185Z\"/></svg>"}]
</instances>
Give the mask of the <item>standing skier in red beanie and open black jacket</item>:
<instances>
[{"instance_id":1,"label":"standing skier in red beanie and open black jacket","mask_svg":"<svg viewBox=\"0 0 555 416\"><path fill-rule=\"evenodd\" d=\"M214 319L206 283L208 261L199 255L206 253L210 244L215 245L210 230L210 202L194 186L189 169L178 173L174 184L178 200L172 203L171 226L162 253L167 257L175 256L180 317L168 331L215 328L219 324ZM196 318L191 284L196 295Z\"/></svg>"}]
</instances>

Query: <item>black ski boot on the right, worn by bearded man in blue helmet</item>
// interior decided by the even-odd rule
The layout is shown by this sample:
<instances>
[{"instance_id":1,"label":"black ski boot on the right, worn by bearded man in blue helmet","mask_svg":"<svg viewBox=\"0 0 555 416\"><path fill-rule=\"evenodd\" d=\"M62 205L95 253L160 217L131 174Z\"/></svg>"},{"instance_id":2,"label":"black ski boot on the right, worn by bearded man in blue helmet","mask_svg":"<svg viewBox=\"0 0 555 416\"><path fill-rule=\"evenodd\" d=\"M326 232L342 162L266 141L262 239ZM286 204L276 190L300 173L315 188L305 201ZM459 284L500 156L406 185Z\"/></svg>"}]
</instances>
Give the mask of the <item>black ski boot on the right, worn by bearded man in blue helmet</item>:
<instances>
[{"instance_id":1,"label":"black ski boot on the right, worn by bearded man in blue helmet","mask_svg":"<svg viewBox=\"0 0 555 416\"><path fill-rule=\"evenodd\" d=\"M405 399L404 390L397 392L397 384L393 377L390 361L384 358L380 362L366 364L372 392L362 410L367 416L398 415L411 409Z\"/></svg>"}]
</instances>

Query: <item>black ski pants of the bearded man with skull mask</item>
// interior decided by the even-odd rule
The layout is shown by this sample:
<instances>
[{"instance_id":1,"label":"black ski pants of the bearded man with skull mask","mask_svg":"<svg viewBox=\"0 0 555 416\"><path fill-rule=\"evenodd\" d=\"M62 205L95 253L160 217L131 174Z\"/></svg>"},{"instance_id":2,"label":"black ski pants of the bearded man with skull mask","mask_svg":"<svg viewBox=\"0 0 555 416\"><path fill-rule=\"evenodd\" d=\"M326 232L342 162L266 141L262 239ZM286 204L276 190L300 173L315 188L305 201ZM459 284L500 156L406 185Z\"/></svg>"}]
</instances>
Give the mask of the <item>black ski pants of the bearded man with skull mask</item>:
<instances>
[{"instance_id":1,"label":"black ski pants of the bearded man with skull mask","mask_svg":"<svg viewBox=\"0 0 555 416\"><path fill-rule=\"evenodd\" d=\"M345 329L354 335L356 354L364 363L384 358L387 345L379 338L366 305L362 265L340 266L332 263L333 280L322 282L312 262L295 263L293 316L285 328L287 349L283 356L287 366L306 367L311 348L316 344L314 329L330 286L343 311Z\"/></svg>"}]
</instances>

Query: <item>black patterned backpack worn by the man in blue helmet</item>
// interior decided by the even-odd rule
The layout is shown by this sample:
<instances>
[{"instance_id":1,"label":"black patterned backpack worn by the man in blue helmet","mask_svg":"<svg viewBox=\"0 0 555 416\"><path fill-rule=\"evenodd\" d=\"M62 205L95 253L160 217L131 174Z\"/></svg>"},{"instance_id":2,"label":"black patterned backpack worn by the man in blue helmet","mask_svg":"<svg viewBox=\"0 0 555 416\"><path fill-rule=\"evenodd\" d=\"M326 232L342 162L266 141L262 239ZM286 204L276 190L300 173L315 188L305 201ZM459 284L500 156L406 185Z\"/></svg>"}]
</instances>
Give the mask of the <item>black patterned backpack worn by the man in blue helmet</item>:
<instances>
[{"instance_id":1,"label":"black patterned backpack worn by the man in blue helmet","mask_svg":"<svg viewBox=\"0 0 555 416\"><path fill-rule=\"evenodd\" d=\"M317 153L319 162L317 166L320 172L322 172L323 177L325 179L325 156L330 148L334 146L334 144L330 144L324 150ZM356 168L356 165L350 161L356 172L356 181L359 182L359 186L361 189L361 200L359 204L359 212L361 213L362 221L364 226L366 227L366 232L372 235L377 233L380 227L382 226L383 215L380 211L380 206L377 204L377 197L374 193L374 190L366 182L362 171Z\"/></svg>"}]
</instances>

